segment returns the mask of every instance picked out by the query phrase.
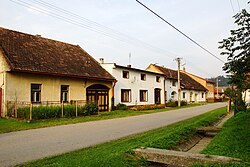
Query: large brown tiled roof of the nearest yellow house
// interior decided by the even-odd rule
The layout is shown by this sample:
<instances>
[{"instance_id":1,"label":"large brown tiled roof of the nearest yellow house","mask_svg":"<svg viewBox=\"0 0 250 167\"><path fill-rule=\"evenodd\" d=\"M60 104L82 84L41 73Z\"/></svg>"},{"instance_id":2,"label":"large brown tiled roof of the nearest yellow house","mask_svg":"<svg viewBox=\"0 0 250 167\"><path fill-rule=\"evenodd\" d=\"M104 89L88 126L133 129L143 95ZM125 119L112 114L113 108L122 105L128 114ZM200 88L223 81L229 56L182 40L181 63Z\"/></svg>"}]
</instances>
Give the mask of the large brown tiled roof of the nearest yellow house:
<instances>
[{"instance_id":1,"label":"large brown tiled roof of the nearest yellow house","mask_svg":"<svg viewBox=\"0 0 250 167\"><path fill-rule=\"evenodd\" d=\"M0 50L11 71L114 80L78 45L0 27Z\"/></svg>"}]
</instances>

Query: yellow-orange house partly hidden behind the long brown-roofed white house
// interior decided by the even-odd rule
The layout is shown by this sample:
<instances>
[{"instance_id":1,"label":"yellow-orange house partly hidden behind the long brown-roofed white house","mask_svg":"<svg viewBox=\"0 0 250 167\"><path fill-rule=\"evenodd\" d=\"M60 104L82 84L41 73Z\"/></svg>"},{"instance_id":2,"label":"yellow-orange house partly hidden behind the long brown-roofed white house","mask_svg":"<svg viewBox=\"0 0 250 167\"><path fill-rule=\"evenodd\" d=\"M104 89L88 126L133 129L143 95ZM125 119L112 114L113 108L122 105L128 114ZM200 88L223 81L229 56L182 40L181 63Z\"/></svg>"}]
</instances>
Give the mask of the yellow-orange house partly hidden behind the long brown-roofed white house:
<instances>
[{"instance_id":1,"label":"yellow-orange house partly hidden behind the long brown-roofed white house","mask_svg":"<svg viewBox=\"0 0 250 167\"><path fill-rule=\"evenodd\" d=\"M201 77L196 76L194 74L190 74L190 73L186 72L185 70L183 70L181 72L190 76L195 81L199 82L202 86L204 86L208 90L206 93L206 101L207 102L214 102L214 90L215 90L214 84L215 83L213 81L201 78Z\"/></svg>"}]
</instances>

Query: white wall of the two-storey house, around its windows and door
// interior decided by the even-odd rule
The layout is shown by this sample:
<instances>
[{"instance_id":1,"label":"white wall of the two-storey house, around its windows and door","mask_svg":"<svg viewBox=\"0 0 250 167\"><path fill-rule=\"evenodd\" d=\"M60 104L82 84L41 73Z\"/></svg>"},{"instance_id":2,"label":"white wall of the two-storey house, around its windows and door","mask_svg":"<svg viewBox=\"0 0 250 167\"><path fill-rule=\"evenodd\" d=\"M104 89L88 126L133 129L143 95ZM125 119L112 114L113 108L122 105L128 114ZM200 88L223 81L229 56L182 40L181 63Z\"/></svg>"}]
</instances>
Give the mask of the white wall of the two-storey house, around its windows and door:
<instances>
[{"instance_id":1,"label":"white wall of the two-storey house, around its windows and door","mask_svg":"<svg viewBox=\"0 0 250 167\"><path fill-rule=\"evenodd\" d=\"M101 64L111 75L113 75L117 83L114 87L114 104L123 103L128 106L131 105L147 105L154 104L154 90L155 88L161 89L161 104L164 104L164 77L160 74L153 74L148 71L139 71L136 69L128 68L115 68L114 64ZM122 71L129 71L129 78L123 78ZM141 80L141 74L146 74L146 80ZM156 76L160 76L160 82L156 82ZM131 89L131 102L121 102L121 89ZM140 90L147 90L148 100L140 102Z\"/></svg>"}]
</instances>

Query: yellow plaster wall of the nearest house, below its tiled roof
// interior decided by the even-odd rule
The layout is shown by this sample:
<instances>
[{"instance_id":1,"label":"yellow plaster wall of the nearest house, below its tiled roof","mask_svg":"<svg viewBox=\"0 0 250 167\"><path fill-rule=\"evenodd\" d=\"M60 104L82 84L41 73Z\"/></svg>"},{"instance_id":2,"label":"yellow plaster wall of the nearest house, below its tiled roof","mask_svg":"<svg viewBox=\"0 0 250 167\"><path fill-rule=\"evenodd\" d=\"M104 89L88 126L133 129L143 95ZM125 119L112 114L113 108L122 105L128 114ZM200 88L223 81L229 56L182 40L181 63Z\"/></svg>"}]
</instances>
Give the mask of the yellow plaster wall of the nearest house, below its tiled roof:
<instances>
[{"instance_id":1,"label":"yellow plaster wall of the nearest house, below its tiled roof","mask_svg":"<svg viewBox=\"0 0 250 167\"><path fill-rule=\"evenodd\" d=\"M6 115L7 101L30 102L32 83L41 84L41 101L60 101L61 85L69 85L69 101L86 100L87 87L102 84L109 88L109 110L111 109L111 81L11 72L0 50L0 86L3 89L2 116Z\"/></svg>"}]
</instances>

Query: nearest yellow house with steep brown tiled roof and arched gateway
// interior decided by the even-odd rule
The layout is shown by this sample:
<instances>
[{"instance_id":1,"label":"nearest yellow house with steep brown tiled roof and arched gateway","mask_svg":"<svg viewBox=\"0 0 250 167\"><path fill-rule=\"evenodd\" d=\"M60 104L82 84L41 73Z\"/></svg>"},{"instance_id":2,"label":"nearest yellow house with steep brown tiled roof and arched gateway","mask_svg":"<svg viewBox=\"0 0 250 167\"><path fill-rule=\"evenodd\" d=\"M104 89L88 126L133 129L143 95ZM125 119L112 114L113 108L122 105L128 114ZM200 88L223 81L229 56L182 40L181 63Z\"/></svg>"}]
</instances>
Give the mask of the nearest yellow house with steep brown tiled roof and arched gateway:
<instances>
[{"instance_id":1,"label":"nearest yellow house with steep brown tiled roof and arched gateway","mask_svg":"<svg viewBox=\"0 0 250 167\"><path fill-rule=\"evenodd\" d=\"M8 101L95 101L107 111L114 80L78 45L0 28L2 116Z\"/></svg>"}]
</instances>

